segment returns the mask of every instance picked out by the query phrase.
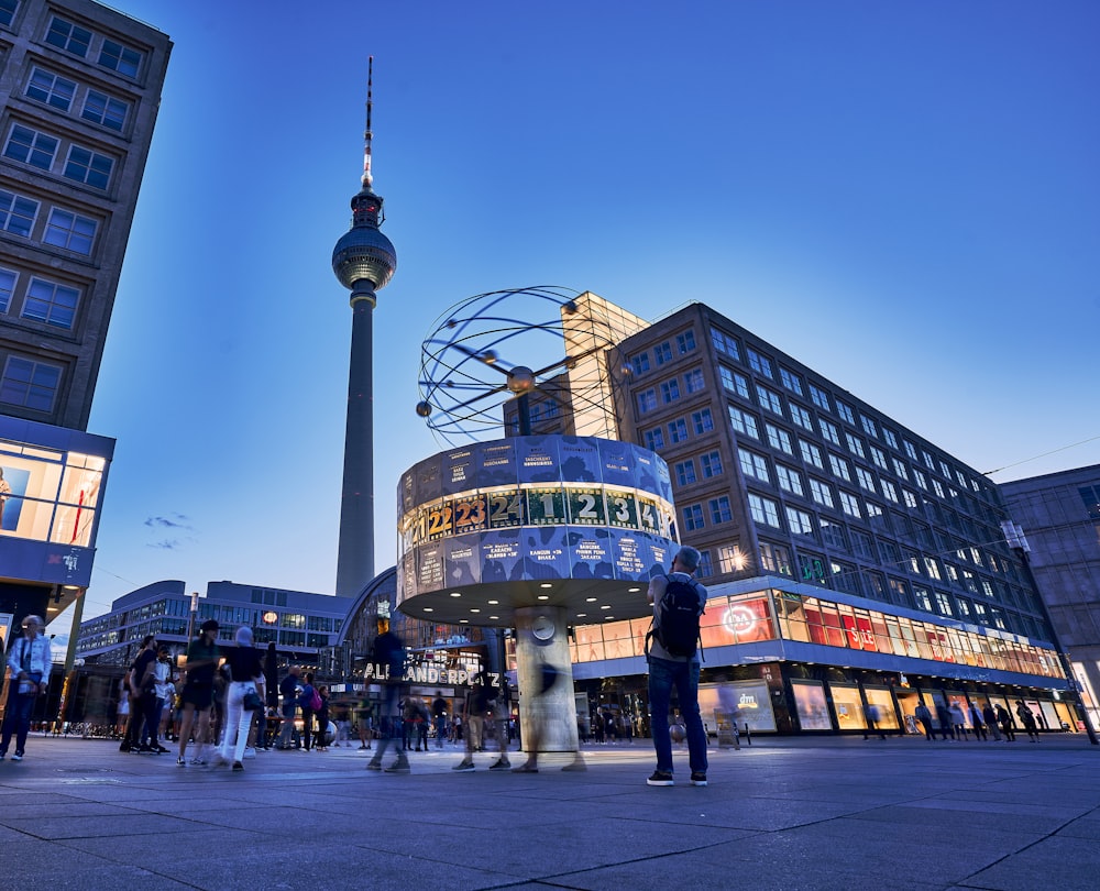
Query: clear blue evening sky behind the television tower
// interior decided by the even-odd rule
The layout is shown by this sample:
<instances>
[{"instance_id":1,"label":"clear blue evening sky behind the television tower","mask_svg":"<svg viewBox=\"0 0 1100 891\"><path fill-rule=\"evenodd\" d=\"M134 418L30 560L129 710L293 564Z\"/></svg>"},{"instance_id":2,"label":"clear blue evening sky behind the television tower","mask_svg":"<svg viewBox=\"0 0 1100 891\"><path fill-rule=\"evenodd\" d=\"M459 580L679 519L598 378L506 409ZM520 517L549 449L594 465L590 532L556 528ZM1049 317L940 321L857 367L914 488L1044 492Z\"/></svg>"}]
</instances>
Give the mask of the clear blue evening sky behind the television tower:
<instances>
[{"instance_id":1,"label":"clear blue evening sky behind the television tower","mask_svg":"<svg viewBox=\"0 0 1100 891\"><path fill-rule=\"evenodd\" d=\"M175 50L86 617L164 579L332 590L369 54L380 570L443 448L420 343L498 288L704 301L998 482L1100 463L1094 0L116 6Z\"/></svg>"}]
</instances>

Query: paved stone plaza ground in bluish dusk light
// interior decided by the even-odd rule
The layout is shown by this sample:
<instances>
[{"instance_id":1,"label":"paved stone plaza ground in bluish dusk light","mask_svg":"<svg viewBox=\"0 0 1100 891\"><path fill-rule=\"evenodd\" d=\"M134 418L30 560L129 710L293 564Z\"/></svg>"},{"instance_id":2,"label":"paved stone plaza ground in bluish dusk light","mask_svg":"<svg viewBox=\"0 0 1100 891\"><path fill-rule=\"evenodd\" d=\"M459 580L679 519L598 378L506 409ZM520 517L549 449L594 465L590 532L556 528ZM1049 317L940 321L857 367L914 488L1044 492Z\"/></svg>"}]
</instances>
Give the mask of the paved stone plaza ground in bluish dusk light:
<instances>
[{"instance_id":1,"label":"paved stone plaza ground in bluish dusk light","mask_svg":"<svg viewBox=\"0 0 1100 891\"><path fill-rule=\"evenodd\" d=\"M102 740L0 763L0 888L1096 889L1100 749L771 738L711 751L710 785L651 788L648 740L588 770L455 772L458 748L258 752L243 773ZM388 758L387 758L388 760ZM513 763L520 758L514 754Z\"/></svg>"}]
</instances>

